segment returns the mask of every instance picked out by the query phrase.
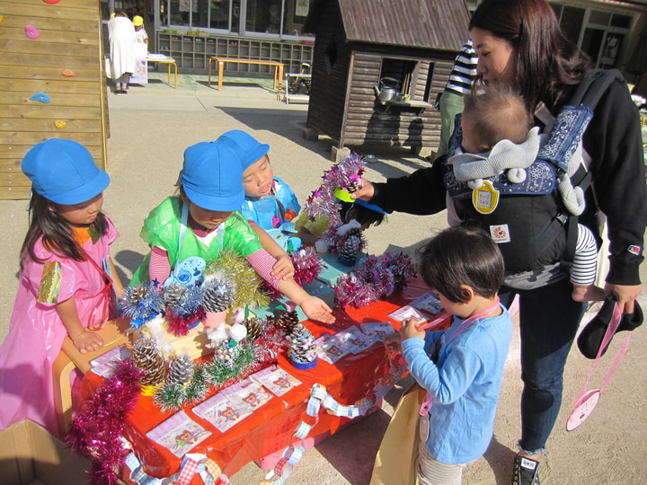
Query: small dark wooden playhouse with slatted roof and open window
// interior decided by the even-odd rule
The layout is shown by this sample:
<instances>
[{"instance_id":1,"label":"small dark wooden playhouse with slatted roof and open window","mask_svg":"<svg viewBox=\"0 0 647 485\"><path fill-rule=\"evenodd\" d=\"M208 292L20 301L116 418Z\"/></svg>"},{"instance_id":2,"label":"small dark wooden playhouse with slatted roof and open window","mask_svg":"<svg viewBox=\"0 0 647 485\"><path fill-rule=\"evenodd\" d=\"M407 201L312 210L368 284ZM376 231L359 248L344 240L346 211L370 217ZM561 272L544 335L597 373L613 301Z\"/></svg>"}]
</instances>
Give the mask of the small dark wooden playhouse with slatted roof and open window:
<instances>
[{"instance_id":1,"label":"small dark wooden playhouse with slatted roof and open window","mask_svg":"<svg viewBox=\"0 0 647 485\"><path fill-rule=\"evenodd\" d=\"M332 159L348 145L435 149L433 105L468 22L464 0L316 0L305 26L316 38L306 137L331 137ZM402 99L380 101L386 82Z\"/></svg>"}]
</instances>

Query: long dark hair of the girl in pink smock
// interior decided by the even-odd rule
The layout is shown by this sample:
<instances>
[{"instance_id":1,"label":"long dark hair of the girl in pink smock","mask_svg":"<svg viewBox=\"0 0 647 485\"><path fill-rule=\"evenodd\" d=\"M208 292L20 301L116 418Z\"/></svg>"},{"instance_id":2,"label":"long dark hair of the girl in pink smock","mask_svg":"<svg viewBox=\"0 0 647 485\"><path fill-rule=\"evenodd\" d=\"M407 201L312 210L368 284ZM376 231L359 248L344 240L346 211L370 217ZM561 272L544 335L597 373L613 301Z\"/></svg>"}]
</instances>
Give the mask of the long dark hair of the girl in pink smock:
<instances>
[{"instance_id":1,"label":"long dark hair of the girl in pink smock","mask_svg":"<svg viewBox=\"0 0 647 485\"><path fill-rule=\"evenodd\" d=\"M42 236L43 245L49 250L57 251L72 260L84 261L86 259L85 251L72 235L72 225L63 217L58 216L56 212L49 210L51 206L56 207L57 204L36 192L31 194L29 207L31 222L22 242L21 268L22 259L28 255L31 260L42 262L34 251L34 245L40 236ZM92 225L100 236L108 232L108 222L101 211L97 214Z\"/></svg>"}]
</instances>

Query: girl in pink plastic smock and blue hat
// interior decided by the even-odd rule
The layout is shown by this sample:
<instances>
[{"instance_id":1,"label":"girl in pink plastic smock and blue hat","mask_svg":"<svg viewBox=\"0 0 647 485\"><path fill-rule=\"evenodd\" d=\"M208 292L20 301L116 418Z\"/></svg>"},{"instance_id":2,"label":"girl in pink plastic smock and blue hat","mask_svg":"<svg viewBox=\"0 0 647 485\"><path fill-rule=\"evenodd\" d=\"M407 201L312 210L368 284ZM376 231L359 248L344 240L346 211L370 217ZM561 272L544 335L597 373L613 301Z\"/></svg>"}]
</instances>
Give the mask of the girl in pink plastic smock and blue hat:
<instances>
[{"instance_id":1,"label":"girl in pink plastic smock and blue hat","mask_svg":"<svg viewBox=\"0 0 647 485\"><path fill-rule=\"evenodd\" d=\"M81 353L98 350L95 330L114 316L122 287L109 246L119 234L101 212L110 178L88 150L50 139L22 159L31 180L31 225L20 286L0 348L0 429L31 419L58 435L52 365L66 336Z\"/></svg>"}]
</instances>

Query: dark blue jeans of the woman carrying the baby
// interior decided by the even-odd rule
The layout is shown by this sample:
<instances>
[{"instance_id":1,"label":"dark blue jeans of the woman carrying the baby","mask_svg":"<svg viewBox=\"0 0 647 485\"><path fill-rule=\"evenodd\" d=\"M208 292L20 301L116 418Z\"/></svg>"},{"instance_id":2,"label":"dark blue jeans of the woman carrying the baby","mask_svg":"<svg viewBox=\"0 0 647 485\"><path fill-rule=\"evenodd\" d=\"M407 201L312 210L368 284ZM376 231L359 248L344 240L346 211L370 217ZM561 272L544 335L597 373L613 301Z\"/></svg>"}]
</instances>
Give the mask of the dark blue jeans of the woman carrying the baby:
<instances>
[{"instance_id":1,"label":"dark blue jeans of the woman carrying the baby","mask_svg":"<svg viewBox=\"0 0 647 485\"><path fill-rule=\"evenodd\" d=\"M519 295L521 339L521 439L527 454L544 451L562 404L563 370L586 304L573 301L568 278L533 290L501 287L510 307Z\"/></svg>"}]
</instances>

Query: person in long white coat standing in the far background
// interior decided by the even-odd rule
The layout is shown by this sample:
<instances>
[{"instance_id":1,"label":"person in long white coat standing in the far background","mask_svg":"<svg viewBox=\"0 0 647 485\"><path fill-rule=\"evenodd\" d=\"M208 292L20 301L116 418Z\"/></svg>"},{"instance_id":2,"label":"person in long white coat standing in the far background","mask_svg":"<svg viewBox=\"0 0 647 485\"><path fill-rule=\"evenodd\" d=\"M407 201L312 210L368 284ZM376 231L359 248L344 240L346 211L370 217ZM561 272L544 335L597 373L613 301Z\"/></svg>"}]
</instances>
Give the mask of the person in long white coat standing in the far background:
<instances>
[{"instance_id":1,"label":"person in long white coat standing in the far background","mask_svg":"<svg viewBox=\"0 0 647 485\"><path fill-rule=\"evenodd\" d=\"M112 79L116 94L128 94L130 75L135 72L135 26L127 13L119 12L108 22Z\"/></svg>"}]
</instances>

